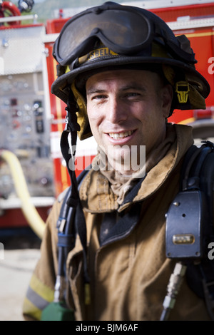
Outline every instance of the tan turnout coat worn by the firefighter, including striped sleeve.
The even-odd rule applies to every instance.
[[[174,125],[177,142],[143,180],[131,203],[119,207],[106,177],[91,170],[83,180],[80,196],[87,225],[88,272],[91,302],[84,301],[83,254],[80,240],[68,254],[68,302],[77,320],[153,321],[159,320],[163,299],[175,262],[165,257],[165,213],[178,192],[183,155],[193,143],[188,126]],[[98,234],[104,212],[129,210],[141,202],[138,222],[123,234],[123,229],[100,246]],[[39,319],[41,304],[36,292],[46,301],[53,299],[57,272],[56,220],[61,207],[57,201],[46,222],[46,233],[30,289],[24,302],[26,319]],[[178,222],[179,225],[179,222]],[[48,292],[48,293],[47,293]],[[170,320],[209,320],[205,304],[184,280]]]

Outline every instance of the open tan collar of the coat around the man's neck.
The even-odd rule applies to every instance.
[[[83,180],[80,197],[87,212],[121,212],[131,203],[139,202],[153,195],[163,185],[170,172],[193,144],[192,128],[188,125],[169,125],[175,131],[176,140],[170,145],[166,155],[146,174],[123,201],[118,205],[117,196],[111,190],[108,179],[99,170],[91,170]]]

